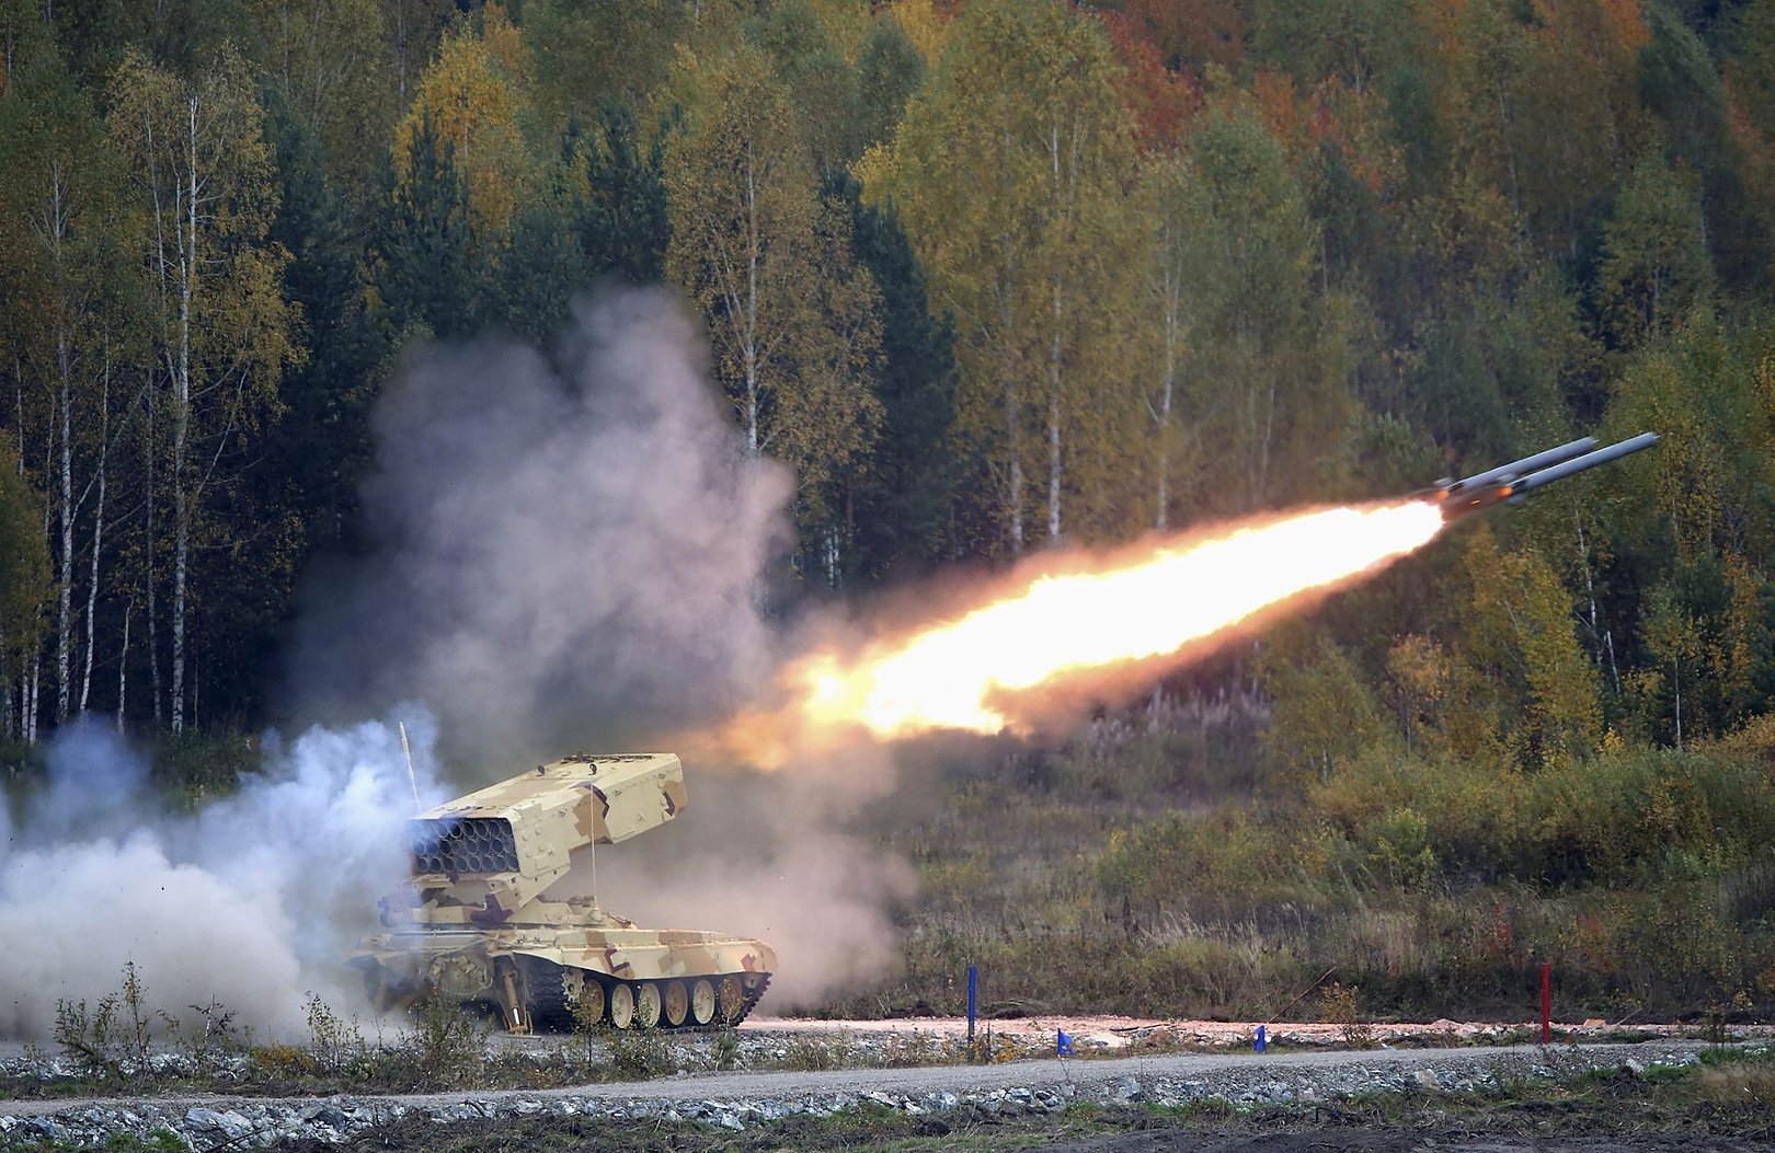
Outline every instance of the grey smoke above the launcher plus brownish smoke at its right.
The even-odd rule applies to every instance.
[[[375,413],[376,546],[307,585],[296,713],[421,701],[467,789],[573,750],[678,750],[769,692],[783,633],[760,601],[793,481],[746,452],[705,364],[664,291],[580,302],[552,360],[492,339],[415,357]],[[598,853],[609,908],[763,937],[777,1009],[880,976],[909,882],[847,825],[891,786],[886,754],[685,768],[685,816]]]

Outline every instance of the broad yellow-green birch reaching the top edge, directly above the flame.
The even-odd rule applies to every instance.
[[[955,314],[964,433],[985,445],[1012,552],[1031,504],[1049,539],[1063,532],[1067,426],[1102,401],[1083,362],[1122,275],[1106,243],[1132,177],[1116,76],[1095,20],[1047,2],[969,5],[895,144],[859,165]]]

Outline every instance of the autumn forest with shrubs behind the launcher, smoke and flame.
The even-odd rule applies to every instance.
[[[1230,727],[1003,772],[1109,805],[1037,928],[1115,953],[1111,910],[1122,988],[1257,1004],[1322,958],[1116,965],[1271,965],[1340,885],[1324,949],[1399,1004],[1528,937],[1599,999],[1775,1004],[1775,4],[0,0],[7,761],[277,720],[410,351],[550,348],[611,282],[793,470],[788,598],[1658,431],[1168,683]],[[1203,740],[1244,775],[1191,805]],[[951,834],[902,837],[939,908]]]

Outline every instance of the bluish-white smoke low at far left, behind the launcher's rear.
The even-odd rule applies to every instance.
[[[430,804],[433,727],[406,726]],[[406,869],[394,724],[268,734],[263,775],[195,814],[158,811],[147,761],[96,722],[46,759],[20,812],[0,800],[0,1036],[48,1039],[57,1000],[115,993],[126,961],[153,1008],[220,1002],[268,1038],[302,1038],[309,993],[360,1004],[343,958]]]

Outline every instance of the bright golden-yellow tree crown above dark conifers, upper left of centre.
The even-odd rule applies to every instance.
[[[467,184],[470,224],[483,239],[511,236],[517,199],[529,184],[518,131],[524,75],[518,30],[493,7],[483,35],[463,30],[444,41],[394,131],[394,170],[405,184],[412,179],[414,140],[430,122],[438,160],[449,156]]]

